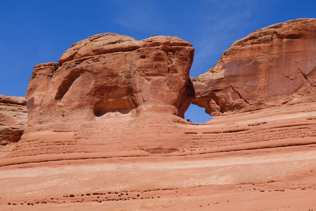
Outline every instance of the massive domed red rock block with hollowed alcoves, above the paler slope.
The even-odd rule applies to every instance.
[[[59,67],[34,67],[27,90],[29,112],[51,111],[63,118],[80,112],[81,118],[95,119],[159,110],[183,117],[190,105],[185,86],[191,46],[177,37],[137,41],[111,33],[79,41],[60,57]]]

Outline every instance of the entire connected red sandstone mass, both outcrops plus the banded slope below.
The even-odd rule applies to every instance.
[[[257,30],[196,79],[165,36],[98,34],[36,65],[0,208],[312,210],[315,22]],[[190,102],[218,116],[187,122]]]

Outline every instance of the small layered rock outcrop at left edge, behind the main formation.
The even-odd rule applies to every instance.
[[[0,157],[12,150],[26,127],[25,97],[0,95]]]

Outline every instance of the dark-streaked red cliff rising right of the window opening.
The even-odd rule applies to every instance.
[[[316,19],[258,29],[223,53],[216,65],[191,78],[193,103],[227,115],[316,101]]]

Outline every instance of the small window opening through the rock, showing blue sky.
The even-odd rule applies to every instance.
[[[184,119],[190,119],[192,123],[206,123],[212,119],[211,115],[205,113],[205,109],[191,104],[184,114]]]

